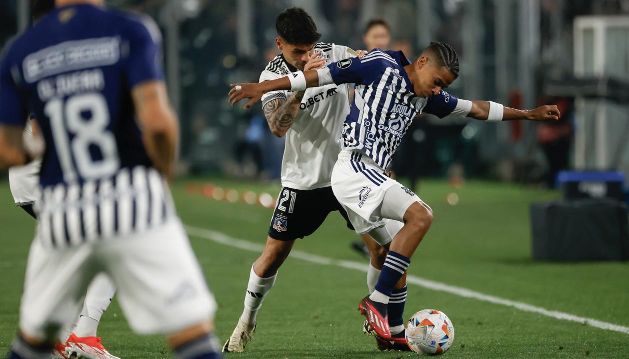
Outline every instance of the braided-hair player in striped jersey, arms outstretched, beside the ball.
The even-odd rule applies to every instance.
[[[454,49],[445,43],[431,43],[412,63],[401,51],[374,49],[361,59],[340,60],[319,70],[289,73],[278,80],[238,83],[230,90],[232,105],[250,99],[245,104],[247,109],[272,91],[356,84],[352,110],[343,124],[343,150],[331,176],[332,189],[357,232],[372,228],[383,218],[404,223],[389,246],[376,289],[359,304],[370,330],[399,348],[406,345],[406,340],[403,321],[389,325],[392,290],[404,281],[411,257],[430,228],[433,212],[415,193],[383,173],[415,115],[452,114],[484,121],[540,121],[560,116],[555,105],[518,110],[491,101],[456,99],[443,88],[458,75],[459,59]]]

